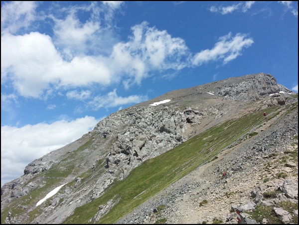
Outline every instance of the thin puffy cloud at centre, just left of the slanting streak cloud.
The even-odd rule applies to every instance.
[[[140,84],[150,71],[182,69],[187,66],[188,48],[181,38],[171,37],[165,30],[149,27],[147,22],[132,27],[129,42],[114,46],[112,58],[118,71],[129,78],[125,81]]]

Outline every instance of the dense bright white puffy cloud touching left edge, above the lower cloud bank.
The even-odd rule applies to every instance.
[[[84,56],[63,61],[48,35],[31,32],[1,37],[1,82],[8,79],[20,95],[39,98],[50,84],[56,88],[108,85],[112,78],[101,59]]]

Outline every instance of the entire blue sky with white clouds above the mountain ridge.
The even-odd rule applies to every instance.
[[[1,1],[1,186],[113,112],[260,72],[298,92],[298,1]]]

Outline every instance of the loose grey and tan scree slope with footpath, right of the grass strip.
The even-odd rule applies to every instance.
[[[242,212],[254,211],[258,203],[276,205],[282,201],[297,203],[297,211],[278,212],[277,216],[285,224],[296,224],[298,157],[287,162],[282,158],[290,152],[297,152],[298,156],[298,111],[284,120],[278,116],[265,121],[255,132],[260,135],[223,151],[217,160],[197,168],[118,224],[153,224],[161,219],[166,219],[165,224],[213,224],[215,219],[223,224],[237,224],[237,209],[244,216],[244,223],[258,224]],[[280,173],[287,177],[277,177]],[[263,198],[263,193],[276,190],[284,192],[275,199]],[[203,201],[207,203],[202,204]],[[269,224],[266,218],[263,222]]]

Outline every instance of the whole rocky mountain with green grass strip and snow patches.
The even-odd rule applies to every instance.
[[[253,173],[260,177],[248,183]],[[281,191],[276,203],[297,204],[298,222],[298,94],[271,74],[250,74],[120,110],[29,163],[24,175],[1,188],[1,224],[212,223],[216,215],[236,223],[235,211],[258,209],[263,194],[274,192],[269,187]],[[240,195],[246,192],[252,199]],[[210,205],[213,197],[222,199],[219,193],[229,202]],[[187,220],[182,212],[192,204],[181,200],[191,199],[195,210]],[[254,209],[242,211],[249,200]],[[219,208],[224,203],[230,214]],[[217,212],[209,216],[204,207]],[[285,214],[291,218],[285,221],[296,220]]]

